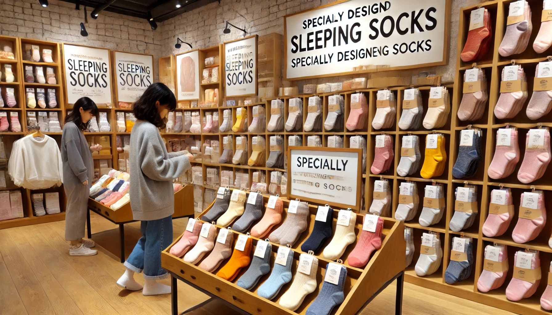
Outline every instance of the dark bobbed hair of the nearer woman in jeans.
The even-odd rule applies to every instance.
[[[134,102],[134,116],[136,119],[151,122],[157,128],[164,129],[166,119],[159,116],[155,103],[159,101],[160,105],[167,106],[169,111],[176,109],[176,97],[174,93],[163,83],[153,83],[147,87],[144,94]]]

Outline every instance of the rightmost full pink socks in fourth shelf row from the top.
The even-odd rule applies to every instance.
[[[543,230],[544,225],[546,224],[546,206],[544,205],[544,195],[542,190],[535,190],[535,194],[538,194],[537,197],[537,209],[540,209],[541,215],[530,220],[528,218],[522,218],[519,217],[518,221],[516,223],[516,227],[514,227],[512,231],[512,239],[514,242],[518,244],[526,243],[529,241],[533,241],[533,239],[537,238],[539,236],[539,233]],[[524,205],[524,197],[526,194],[530,193],[522,193],[521,194],[521,202],[519,206]],[[530,196],[534,197],[534,196]]]

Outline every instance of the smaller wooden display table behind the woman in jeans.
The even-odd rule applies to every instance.
[[[125,228],[124,225],[130,222],[136,222],[132,218],[132,210],[130,209],[130,202],[121,206],[117,210],[113,210],[110,207],[104,206],[98,201],[92,198],[88,198],[88,211],[86,217],[86,224],[88,229],[88,238],[92,238],[92,230],[90,223],[90,210],[94,211],[100,216],[107,218],[107,220],[119,225],[119,237],[121,245],[121,263],[125,262]],[[185,185],[181,190],[174,193],[174,213],[172,218],[194,217],[194,193],[192,185]]]

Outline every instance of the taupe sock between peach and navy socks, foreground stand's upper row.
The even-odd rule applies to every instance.
[[[293,201],[290,201],[290,203],[291,202]],[[268,236],[270,242],[284,246],[288,244],[293,245],[301,233],[305,232],[307,229],[307,218],[310,214],[309,204],[306,202],[297,202],[295,213],[290,212],[290,208],[291,206],[288,207],[284,223],[282,223],[282,225],[280,225]]]

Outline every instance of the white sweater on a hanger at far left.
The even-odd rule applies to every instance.
[[[13,143],[8,162],[8,174],[15,185],[26,189],[46,189],[61,186],[63,165],[60,148],[54,138],[31,135]]]

